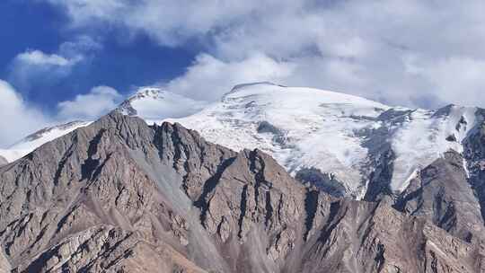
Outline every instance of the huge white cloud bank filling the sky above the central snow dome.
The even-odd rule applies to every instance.
[[[65,10],[72,28],[108,23],[144,32],[163,46],[198,41],[204,50],[193,66],[166,83],[181,92],[197,87],[197,96],[213,97],[219,82],[252,81],[229,75],[233,69],[220,71],[218,79],[211,73],[216,64],[250,71],[251,59],[259,55],[277,69],[291,67],[291,73],[276,77],[284,84],[391,104],[437,107],[479,98],[475,103],[485,106],[483,83],[475,76],[485,62],[480,0],[45,1]],[[204,80],[195,72],[210,76]]]

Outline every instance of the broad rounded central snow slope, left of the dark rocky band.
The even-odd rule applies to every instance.
[[[293,174],[306,168],[331,173],[357,192],[367,151],[356,132],[375,127],[388,108],[339,92],[242,84],[207,109],[169,121],[234,150],[260,148]]]

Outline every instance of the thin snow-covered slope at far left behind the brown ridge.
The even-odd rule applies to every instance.
[[[35,150],[40,145],[48,143],[57,137],[62,137],[74,131],[76,128],[88,126],[90,123],[90,121],[72,121],[50,128],[43,128],[40,131],[23,138],[8,149],[0,149],[0,156],[3,156],[4,159],[11,163],[26,154],[31,153],[31,151]]]

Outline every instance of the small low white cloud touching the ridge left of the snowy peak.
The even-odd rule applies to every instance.
[[[86,94],[78,94],[73,101],[57,104],[58,119],[97,119],[115,109],[122,96],[110,86],[96,86]]]

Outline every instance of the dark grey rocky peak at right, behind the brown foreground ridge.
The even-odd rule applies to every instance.
[[[454,151],[419,172],[395,207],[413,216],[424,216],[467,242],[485,238],[479,200],[467,182],[463,156]]]

